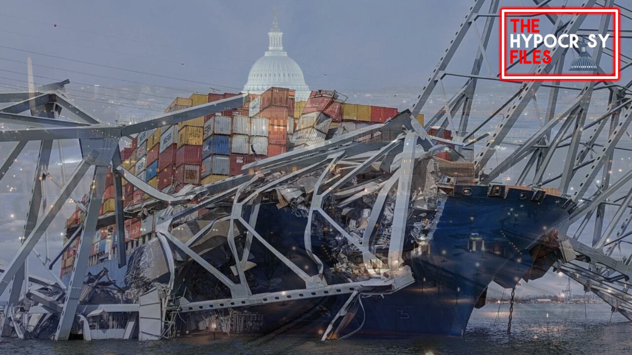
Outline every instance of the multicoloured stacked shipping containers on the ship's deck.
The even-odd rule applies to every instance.
[[[165,112],[234,95],[237,94],[193,93],[189,98],[174,99]],[[151,186],[177,191],[186,184],[210,184],[241,174],[245,164],[283,154],[296,133],[309,132],[308,140],[322,141],[334,131],[337,135],[368,124],[384,123],[397,113],[397,109],[389,107],[346,104],[334,92],[324,90],[312,92],[307,102],[295,102],[293,90],[273,87],[261,95],[249,95],[246,104],[238,109],[139,133],[130,148],[123,148],[121,158],[127,171]],[[423,124],[423,115],[418,120]],[[147,198],[123,178],[125,207]],[[115,208],[113,179],[109,174],[100,212],[110,214]],[[68,219],[67,227],[79,224],[82,219],[83,212],[77,209]],[[142,243],[140,239],[150,236],[154,226],[154,215],[126,220],[126,248],[131,251]],[[99,238],[94,241],[91,262],[113,255],[111,250],[116,249],[116,226],[97,232]],[[62,274],[70,272],[75,253],[76,244],[64,253]]]

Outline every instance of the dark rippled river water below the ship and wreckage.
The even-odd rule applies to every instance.
[[[0,354],[632,354],[632,323],[618,313],[611,318],[607,304],[516,304],[511,335],[506,334],[507,311],[507,304],[502,304],[500,314],[497,304],[475,310],[465,337],[362,338],[335,342],[275,339],[263,343],[235,338],[214,340],[212,336],[153,342],[8,339],[0,345]]]

